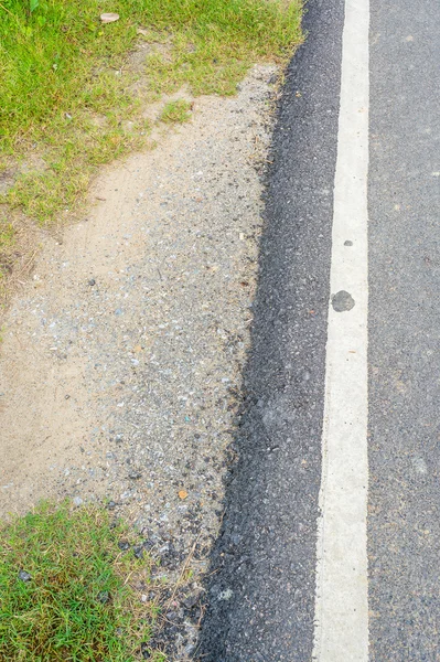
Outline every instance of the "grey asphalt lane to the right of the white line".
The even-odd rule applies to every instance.
[[[440,660],[440,7],[373,0],[371,661]]]

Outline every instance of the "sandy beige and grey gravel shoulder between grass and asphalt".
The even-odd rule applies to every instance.
[[[275,81],[257,66],[236,97],[197,98],[191,122],[104,171],[87,217],[46,238],[3,327],[2,516],[104,501],[197,586],[249,348]],[[185,627],[175,660],[192,651]]]

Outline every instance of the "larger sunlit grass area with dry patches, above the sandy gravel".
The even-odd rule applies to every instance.
[[[99,166],[148,143],[146,104],[182,86],[230,95],[253,63],[286,62],[302,40],[301,9],[301,0],[0,0],[0,184],[14,173],[0,194],[0,253],[14,211],[58,223]],[[105,11],[119,20],[101,24]],[[144,62],[133,67],[139,46]],[[162,119],[186,119],[179,113]]]

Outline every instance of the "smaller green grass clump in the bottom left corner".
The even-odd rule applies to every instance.
[[[0,660],[135,662],[142,659],[157,607],[129,579],[150,581],[151,558],[121,541],[107,511],[41,504],[0,527]],[[131,541],[135,543],[135,541]],[[163,662],[151,651],[153,662]]]

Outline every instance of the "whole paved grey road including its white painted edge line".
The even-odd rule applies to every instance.
[[[440,660],[440,11],[310,0],[204,662]]]

